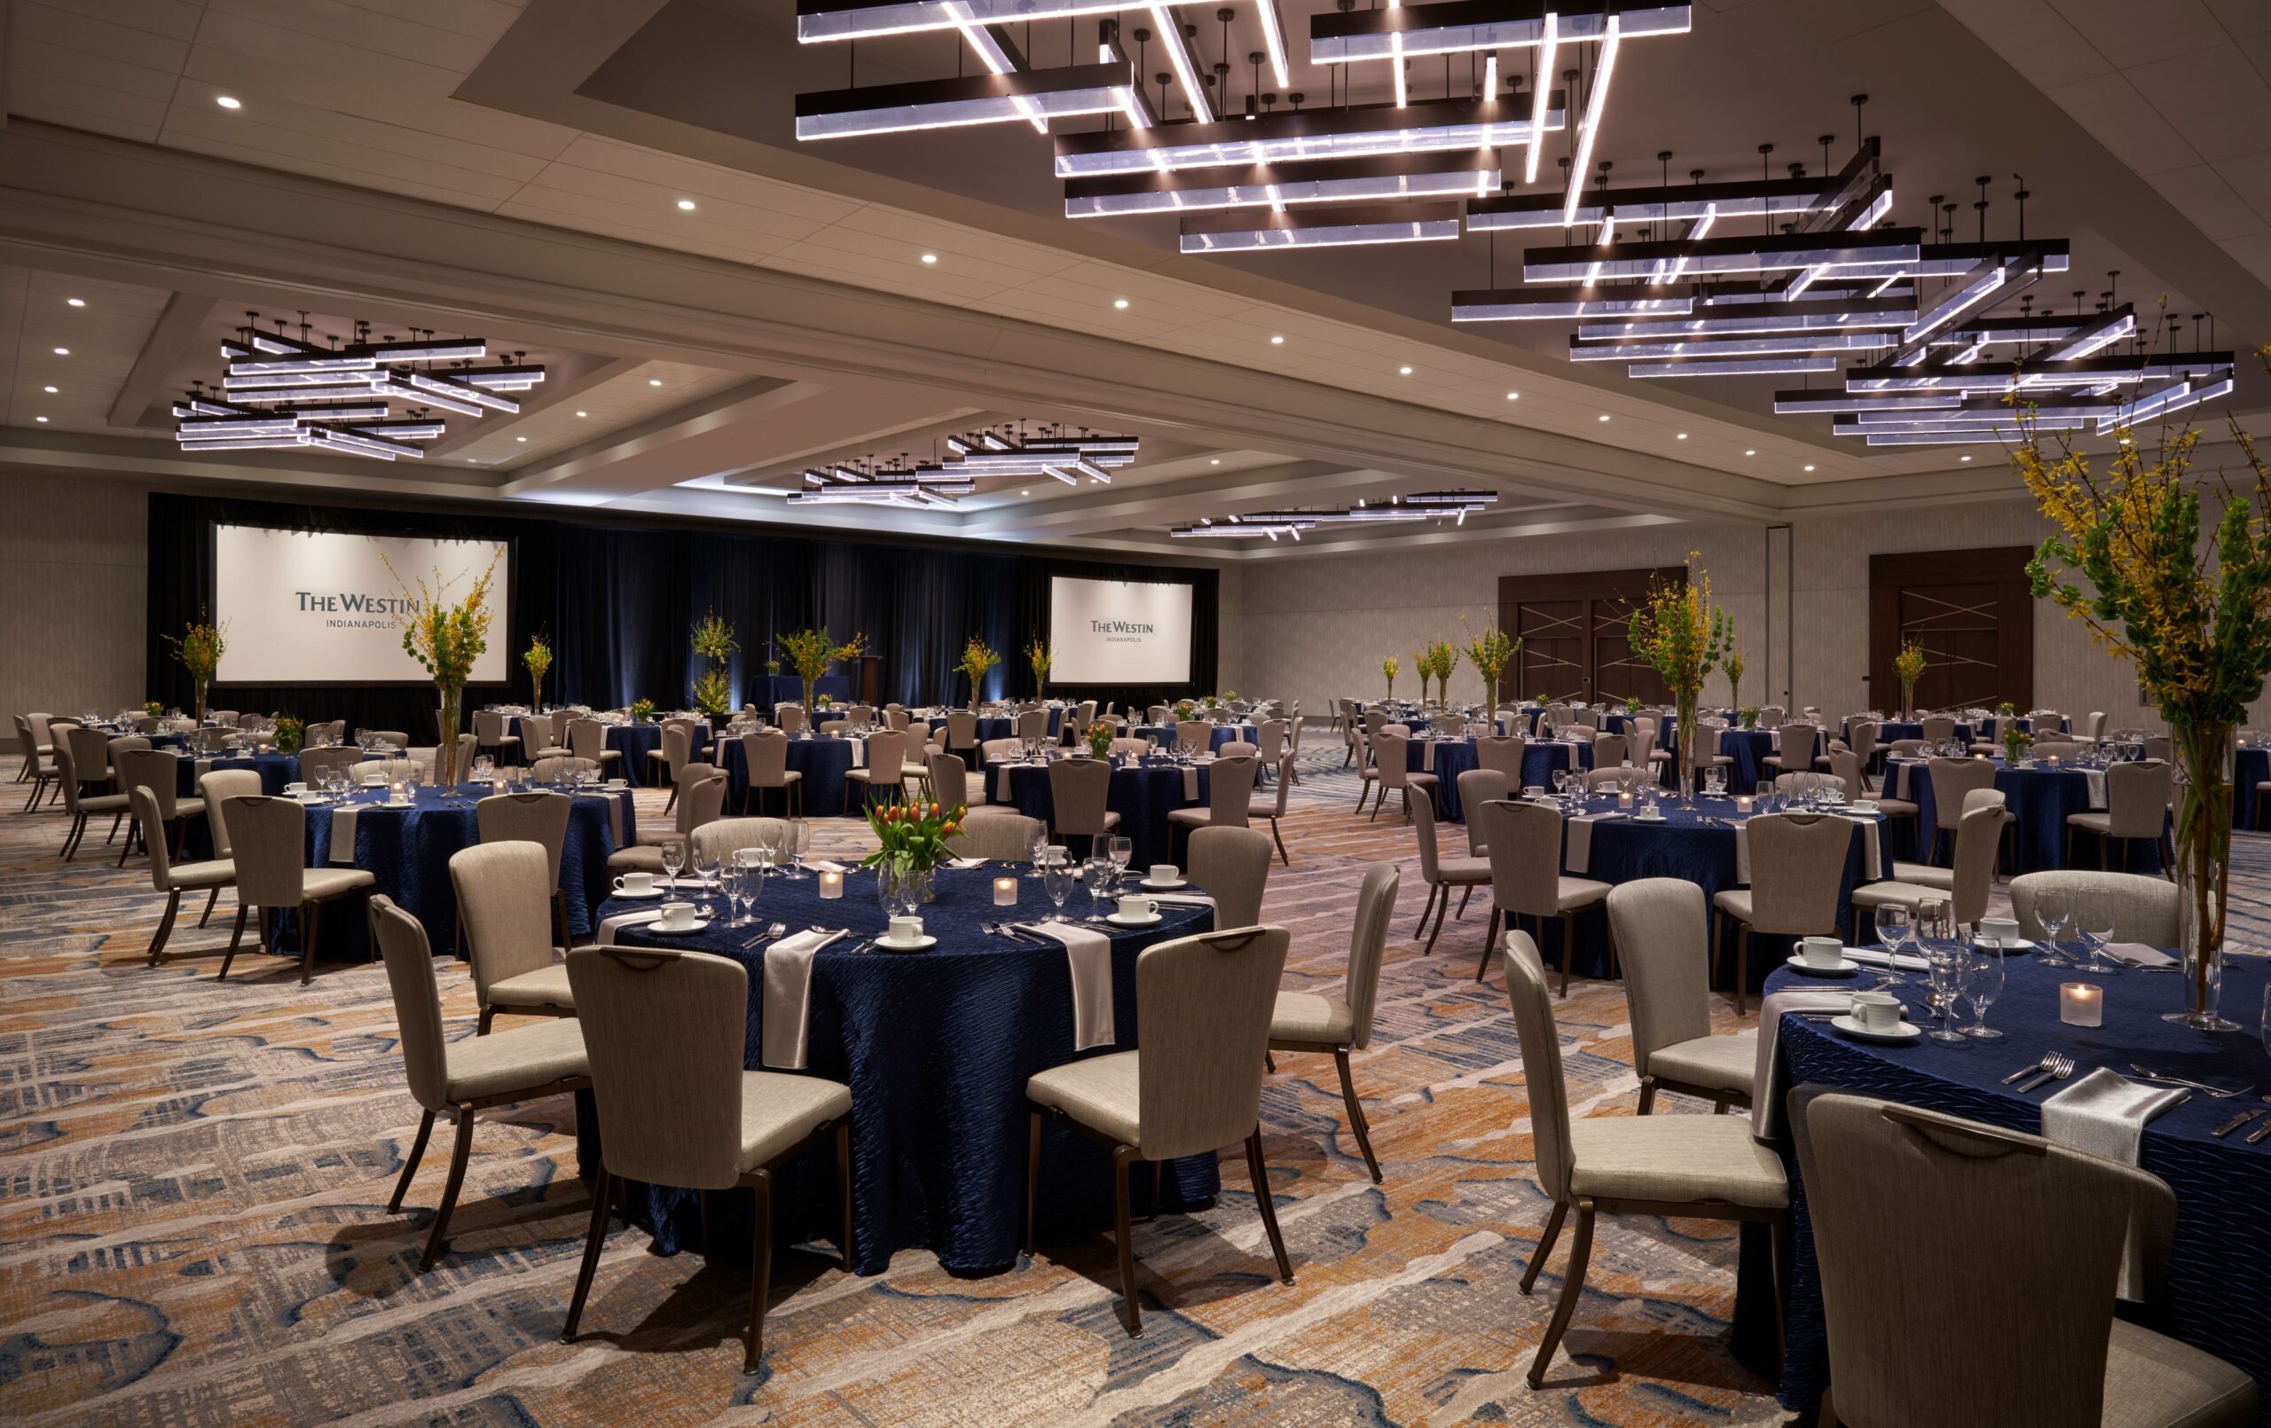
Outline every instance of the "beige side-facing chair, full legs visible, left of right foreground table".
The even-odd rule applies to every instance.
[[[1562,1083],[1560,1033],[1544,965],[1528,933],[1506,938],[1506,997],[1515,1006],[1522,1038],[1522,1081],[1531,1101],[1531,1140],[1537,1156],[1537,1187],[1553,1201],[1537,1237],[1522,1292],[1537,1285],[1562,1219],[1576,1210],[1576,1240],[1562,1271],[1553,1319],[1531,1362],[1531,1387],[1544,1385],[1547,1364],[1560,1346],[1569,1317],[1585,1296],[1585,1265],[1592,1258],[1594,1215],[1662,1215],[1671,1219],[1767,1221],[1783,1242],[1790,1215],[1790,1181],[1780,1158],[1751,1137],[1751,1122],[1701,1115],[1617,1115],[1569,1119]],[[1776,1271],[1776,1301],[1787,1269]]]

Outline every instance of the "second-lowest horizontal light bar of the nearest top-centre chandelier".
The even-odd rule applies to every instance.
[[[1488,150],[1319,159],[1299,166],[1258,163],[1204,177],[1147,170],[1067,179],[1065,218],[1458,198],[1474,193],[1476,186],[1497,188],[1499,182],[1499,161]]]

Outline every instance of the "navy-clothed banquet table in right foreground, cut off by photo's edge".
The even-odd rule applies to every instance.
[[[2003,963],[2005,988],[1987,1024],[2003,1033],[1998,1042],[1951,1047],[1933,1040],[1883,1047],[1840,1035],[1826,1022],[1783,1017],[1774,1056],[1780,1062],[1783,1090],[1824,1085],[1864,1097],[1883,1097],[1905,1106],[1942,1110],[2028,1135],[2042,1133],[2042,1101],[2060,1083],[2028,1094],[2014,1094],[2003,1076],[2035,1062],[2044,1051],[2067,1051],[2076,1060],[2073,1078],[2096,1067],[2128,1074],[2130,1062],[2148,1065],[2164,1076],[2214,1085],[2271,1083],[2271,1060],[2248,1035],[2203,1035],[2162,1022],[2182,1001],[2180,974],[2112,972],[2087,976],[2060,967],[2039,967],[2033,956],[2010,956]],[[2262,1006],[2266,963],[2232,958],[2223,972],[2223,1013],[2253,1022]],[[1917,974],[1910,974],[1910,983]],[[2067,1026],[2058,1019],[2058,983],[2089,981],[2105,990],[2105,1026]],[[1776,969],[1767,990],[1821,985],[1815,976]],[[1910,1019],[1924,1022],[1921,999],[1910,994]],[[2271,1203],[2271,1142],[2246,1144],[2244,1131],[2223,1140],[2210,1131],[2237,1110],[2257,1106],[2255,1097],[2221,1101],[2194,1094],[2180,1106],[2153,1117],[2144,1128],[2139,1165],[2176,1192],[2176,1240],[2169,1246],[2167,1308],[2169,1319],[2155,1324],[2196,1349],[2214,1353],[2271,1385],[2271,1221],[2262,1208]],[[1808,1410],[1828,1383],[1828,1342],[1821,1321],[1821,1280],[1815,1267],[1812,1228],[1805,1217],[1805,1187],[1799,1181],[1790,1140],[1790,1117],[1780,1117],[1783,1158],[1792,1183],[1792,1230],[1796,1255],[1790,1280],[1790,1349],[1783,1364],[1778,1398],[1783,1408]],[[1992,1208],[1983,1208],[1992,1215]],[[1753,1255],[1744,1244],[1744,1269],[1765,1260],[1760,1242]],[[1737,1339],[1760,1330],[1771,1342],[1774,1296],[1767,1283],[1751,1274],[1735,1305]],[[1753,1294],[1751,1287],[1760,1292]],[[2023,1342],[2021,1342],[2023,1344]],[[2271,1396],[2264,1398],[2271,1421]]]

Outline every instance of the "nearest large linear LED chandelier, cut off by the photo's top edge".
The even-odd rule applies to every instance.
[[[1231,104],[1231,20],[1251,2],[1263,45],[1245,61],[1245,111]],[[1183,252],[1265,252],[1351,243],[1449,241],[1463,232],[1460,202],[1488,200],[1517,175],[1535,184],[1553,132],[1569,134],[1583,175],[1606,116],[1617,54],[1631,39],[1685,34],[1690,5],[1660,0],[1449,0],[1315,16],[1308,61],[1326,68],[1326,89],[1381,66],[1392,104],[1340,102],[1301,109],[1276,0],[1242,0],[1213,11],[1220,54],[1206,64],[1197,25],[1174,5],[1138,5],[1149,25],[1122,34],[1097,20],[1092,57],[1067,36],[1067,64],[1040,68],[1011,23],[1067,20],[1131,9],[1126,0],[797,0],[797,39],[836,43],[886,34],[956,34],[983,73],[911,84],[870,84],[797,98],[797,138],[897,134],[911,129],[1026,123],[1051,132],[1061,118],[1104,116],[1101,132],[1056,136],[1056,175],[1067,218],[1126,213],[1181,216]],[[1131,45],[1133,41],[1133,59]],[[1158,45],[1160,68],[1149,48]],[[1508,75],[1501,86],[1501,52]],[[1467,54],[1465,89],[1451,57]],[[856,57],[856,52],[854,52]],[[1406,75],[1415,57],[1444,59],[1442,98],[1419,100]],[[1585,61],[1590,59],[1590,82]],[[1263,91],[1267,64],[1274,91]],[[1572,68],[1556,70],[1569,64]],[[1565,84],[1553,84],[1556,73]],[[856,68],[854,68],[856,75]],[[1147,91],[1156,82],[1156,98]],[[1170,82],[1188,118],[1170,116]],[[1281,98],[1290,109],[1276,109]],[[1574,132],[1572,132],[1574,125]],[[1501,166],[1519,152],[1519,168]],[[1581,202],[1572,179],[1558,207]]]

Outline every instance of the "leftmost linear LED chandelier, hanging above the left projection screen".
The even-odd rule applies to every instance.
[[[518,413],[520,402],[506,393],[545,379],[518,352],[493,368],[475,366],[488,356],[481,338],[413,329],[409,338],[370,341],[370,325],[357,322],[352,343],[318,345],[307,313],[298,338],[284,327],[275,318],[275,331],[263,331],[259,313],[248,311],[245,325],[220,343],[227,368],[218,388],[198,381],[173,404],[173,436],[184,452],[316,447],[377,461],[418,459],[425,456],[418,443],[447,431],[434,411]],[[404,415],[395,415],[395,404]]]

